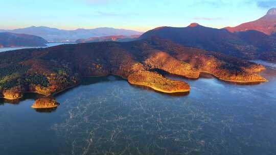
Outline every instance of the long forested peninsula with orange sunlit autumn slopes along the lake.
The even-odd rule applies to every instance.
[[[131,42],[66,44],[0,53],[0,97],[17,99],[26,92],[51,96],[80,84],[85,76],[116,74],[130,84],[166,93],[188,92],[182,81],[158,70],[191,79],[208,72],[223,81],[266,82],[262,65],[151,37]]]

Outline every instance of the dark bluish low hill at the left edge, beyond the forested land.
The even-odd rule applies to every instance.
[[[46,43],[48,42],[43,38],[33,35],[0,33],[0,47],[47,46]]]

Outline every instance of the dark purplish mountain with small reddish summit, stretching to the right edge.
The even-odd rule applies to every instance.
[[[140,38],[157,36],[176,43],[216,51],[242,59],[263,59],[276,62],[276,37],[258,31],[231,33],[192,23],[186,28],[160,27]]]

